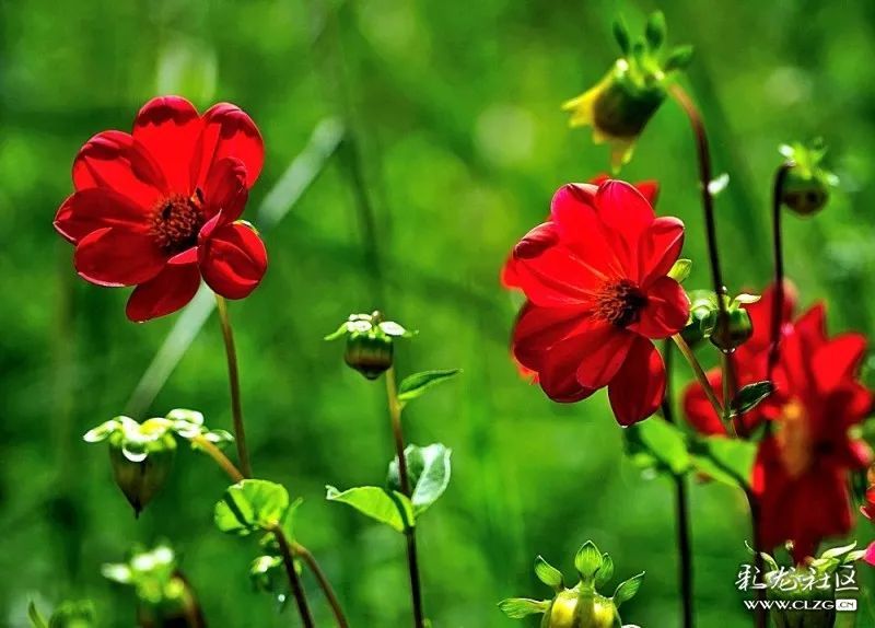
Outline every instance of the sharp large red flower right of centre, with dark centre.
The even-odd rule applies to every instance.
[[[667,276],[684,223],[656,218],[634,187],[570,184],[553,196],[550,220],[514,247],[514,272],[528,302],[513,332],[514,357],[547,395],[578,402],[608,387],[621,425],[652,415],[665,369],[651,339],[678,333],[689,302]]]

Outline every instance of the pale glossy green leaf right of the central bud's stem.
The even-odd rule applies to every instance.
[[[438,501],[450,485],[450,456],[452,450],[441,443],[424,447],[408,445],[404,451],[407,460],[407,476],[412,488],[410,502],[413,513],[419,516],[431,504]],[[388,485],[392,490],[401,491],[401,480],[398,475],[398,458],[389,463]]]

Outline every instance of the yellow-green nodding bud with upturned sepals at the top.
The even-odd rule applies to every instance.
[[[666,25],[662,13],[652,14],[645,37],[634,44],[622,21],[614,25],[620,57],[592,89],[565,102],[571,126],[592,126],[595,143],[612,144],[615,171],[632,158],[634,142],[667,95],[673,74],[690,61],[692,49],[681,46],[663,55]]]

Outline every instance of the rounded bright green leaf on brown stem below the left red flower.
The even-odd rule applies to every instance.
[[[225,490],[215,504],[215,525],[222,532],[245,536],[269,531],[282,522],[289,508],[289,492],[281,485],[245,479]]]

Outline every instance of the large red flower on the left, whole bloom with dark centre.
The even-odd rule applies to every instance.
[[[55,229],[75,245],[81,277],[136,286],[131,321],[179,310],[201,278],[242,299],[267,269],[261,239],[238,220],[262,163],[258,128],[236,106],[220,103],[199,116],[185,98],[153,98],[131,133],[104,131],[85,142]]]

